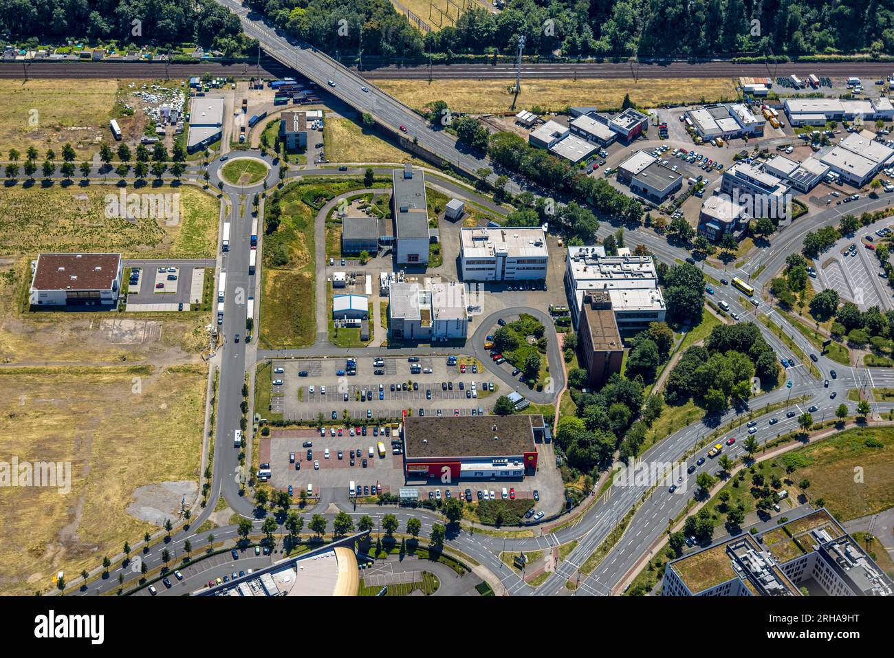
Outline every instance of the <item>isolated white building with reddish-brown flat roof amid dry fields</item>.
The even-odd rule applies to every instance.
[[[40,254],[32,270],[32,307],[114,306],[118,302],[121,254]]]

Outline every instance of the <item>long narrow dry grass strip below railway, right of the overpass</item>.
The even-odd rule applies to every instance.
[[[509,113],[512,105],[510,87],[515,80],[375,80],[384,89],[410,107],[421,109],[442,99],[453,112],[471,114]],[[717,79],[654,79],[647,80],[521,80],[521,94],[516,109],[539,105],[546,111],[559,112],[569,105],[595,105],[620,108],[629,94],[638,107],[654,107],[667,103],[707,102],[736,97],[731,80]]]

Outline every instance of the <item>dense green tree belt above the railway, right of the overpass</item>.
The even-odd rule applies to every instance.
[[[442,30],[423,37],[391,4],[360,0],[250,0],[284,30],[342,53],[402,57],[440,53],[511,54],[526,38],[526,54],[549,56],[686,55],[750,51],[764,54],[835,53],[894,49],[894,13],[878,4],[833,0],[509,0],[501,13],[463,13],[454,25],[440,12],[421,16]],[[400,19],[402,24],[395,21]],[[344,21],[340,23],[339,21]],[[342,29],[341,31],[339,29]],[[673,38],[669,38],[673,35]]]

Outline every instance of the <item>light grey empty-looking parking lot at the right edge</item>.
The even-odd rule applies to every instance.
[[[879,243],[883,236],[876,232],[888,228],[888,223],[889,220],[870,224],[860,228],[856,235],[836,242],[823,260],[814,286],[837,291],[841,298],[853,301],[861,310],[873,306],[894,308],[888,281],[880,276],[881,266],[875,251],[866,247]]]

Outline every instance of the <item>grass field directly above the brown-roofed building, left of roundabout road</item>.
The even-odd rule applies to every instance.
[[[106,196],[179,194],[180,220],[106,217]],[[191,185],[119,188],[21,185],[0,188],[0,254],[39,251],[120,251],[124,257],[214,257],[217,249],[218,200]],[[173,225],[168,225],[173,224]]]

